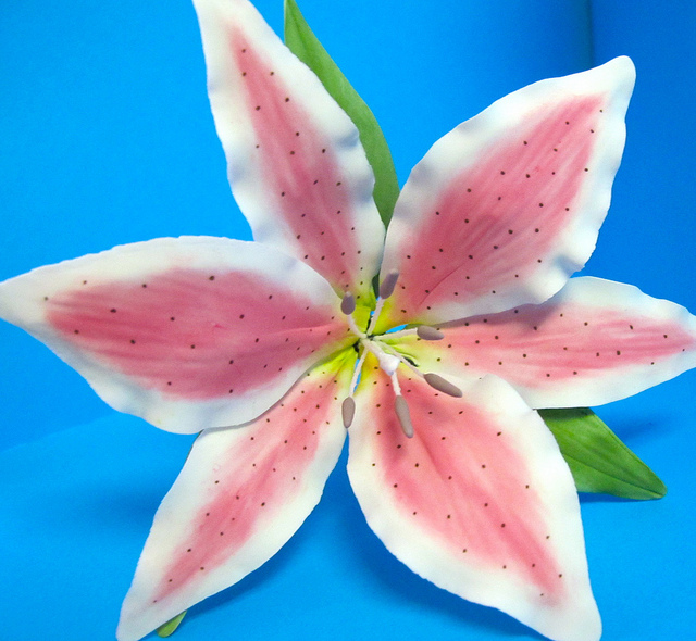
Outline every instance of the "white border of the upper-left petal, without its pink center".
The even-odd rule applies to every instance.
[[[274,204],[264,189],[261,167],[253,162],[253,129],[245,103],[241,75],[229,53],[227,27],[243,28],[253,39],[275,73],[291,81],[293,100],[301,103],[312,124],[332,141],[337,162],[351,190],[355,232],[361,264],[371,278],[378,271],[385,229],[372,198],[374,175],[365,156],[358,129],[326,92],[314,73],[281,41],[256,8],[247,0],[194,0],[200,23],[208,66],[210,102],[217,135],[228,162],[229,183],[235,199],[248,218],[256,240],[277,246],[302,260],[287,225],[274,216]],[[358,275],[352,275],[353,279]],[[365,278],[368,281],[369,278]]]

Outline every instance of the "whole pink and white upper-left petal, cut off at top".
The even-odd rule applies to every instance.
[[[210,102],[254,239],[366,296],[384,225],[345,112],[247,0],[196,0]]]

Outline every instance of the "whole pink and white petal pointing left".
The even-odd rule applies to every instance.
[[[122,412],[171,431],[256,418],[346,344],[340,299],[258,243],[163,238],[0,284],[0,317]]]

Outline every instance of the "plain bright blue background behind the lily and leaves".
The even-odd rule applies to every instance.
[[[279,30],[281,0],[256,4]],[[585,273],[696,311],[691,0],[300,5],[380,120],[401,183],[438,137],[502,95],[631,55],[638,81],[624,162]],[[0,279],[159,236],[249,237],[185,0],[3,3],[0,61]],[[650,503],[583,498],[608,641],[693,637],[695,384],[688,373],[600,410],[670,488]],[[190,439],[115,414],[4,324],[0,399],[0,639],[113,639]],[[340,465],[291,542],[195,612],[175,638],[540,639],[394,560]]]

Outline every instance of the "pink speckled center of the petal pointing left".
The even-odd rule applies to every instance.
[[[150,389],[188,399],[256,389],[346,336],[332,310],[238,272],[84,281],[46,304],[48,322],[70,343]]]

